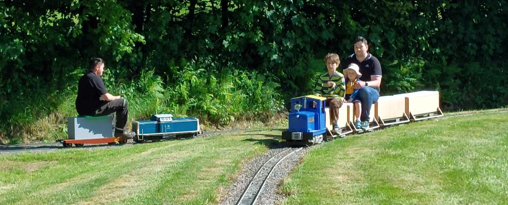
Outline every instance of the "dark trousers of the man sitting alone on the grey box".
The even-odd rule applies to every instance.
[[[102,104],[99,109],[96,110],[96,116],[108,115],[113,112],[116,112],[115,129],[123,131],[125,124],[127,124],[127,116],[129,113],[129,103],[127,103],[127,100],[120,98]]]

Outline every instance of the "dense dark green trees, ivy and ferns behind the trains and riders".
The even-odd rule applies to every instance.
[[[75,115],[93,56],[134,118],[266,118],[310,91],[326,53],[350,55],[357,35],[382,63],[382,95],[437,89],[445,109],[505,106],[506,10],[493,0],[1,1],[0,138],[41,138],[31,124]]]

